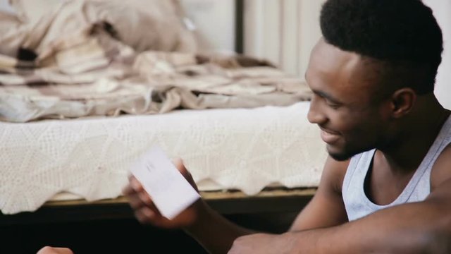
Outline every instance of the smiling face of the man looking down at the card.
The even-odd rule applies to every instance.
[[[376,63],[320,40],[311,53],[306,80],[314,97],[308,119],[321,128],[331,157],[349,159],[384,145],[388,103],[376,99]]]

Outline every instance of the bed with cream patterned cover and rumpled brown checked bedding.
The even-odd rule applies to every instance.
[[[32,6],[32,1],[13,2]],[[75,5],[78,2],[78,7],[85,3],[73,2]],[[58,7],[60,14],[61,8]],[[167,46],[167,43],[161,44]],[[145,45],[135,45],[134,49],[137,47],[145,48]],[[183,47],[186,49],[190,44]],[[40,61],[48,63],[54,56],[46,53],[44,48],[37,47],[47,54],[47,58]],[[104,51],[105,54],[92,61],[97,66],[70,62],[73,54],[56,54],[59,58],[55,56],[54,59],[64,63],[59,65],[63,73],[73,74],[70,78],[61,75],[61,68],[58,71],[41,68],[36,75],[37,72],[30,71],[32,67],[27,66],[26,61],[10,63],[11,59],[1,59],[2,71],[8,74],[0,77],[3,84],[0,87],[0,96],[3,96],[0,105],[3,120],[0,122],[1,213],[22,218],[23,212],[39,214],[42,210],[51,210],[51,207],[100,205],[104,209],[100,212],[102,216],[111,214],[111,210],[105,210],[105,205],[126,203],[121,197],[121,189],[128,181],[128,169],[152,145],[160,145],[169,157],[181,157],[204,198],[210,202],[221,201],[216,202],[216,206],[222,207],[223,212],[233,212],[230,206],[236,205],[237,200],[247,200],[249,205],[246,209],[255,211],[262,207],[252,200],[271,200],[266,202],[266,206],[271,206],[275,204],[274,200],[283,200],[280,197],[311,198],[310,188],[318,186],[326,150],[318,128],[307,121],[309,99],[305,85],[298,86],[301,84],[299,80],[268,63],[243,56],[193,56],[189,50],[184,52],[185,49],[175,53],[179,58],[142,49],[144,53],[140,54],[140,62],[150,62],[153,70],[159,67],[157,69],[166,71],[166,74],[166,67],[173,64],[172,67],[177,67],[178,78],[182,72],[192,75],[199,71],[198,66],[187,68],[187,62],[218,63],[222,67],[232,65],[233,68],[226,72],[219,71],[229,78],[240,77],[241,83],[228,80],[226,83],[231,84],[228,87],[211,85],[218,79],[212,79],[211,73],[207,73],[209,78],[202,76],[202,82],[197,80],[195,89],[190,87],[187,90],[190,93],[187,93],[183,90],[186,86],[179,85],[186,80],[185,76],[176,79],[165,75],[164,81],[171,82],[147,93],[149,90],[142,89],[142,80],[137,82],[135,76],[130,78],[127,72],[112,69],[115,65],[111,62],[107,71],[99,71],[104,64],[102,59],[108,55],[105,52],[109,51]],[[121,63],[130,59],[127,50],[116,51],[116,56],[122,57]],[[42,54],[38,54],[38,58]],[[253,65],[249,66],[249,62]],[[235,68],[237,64],[246,67],[248,72]],[[139,69],[141,78],[150,68],[133,66]],[[80,69],[91,72],[85,75]],[[199,73],[206,73],[206,69],[211,71],[211,65]],[[80,73],[83,75],[78,75]],[[218,68],[214,68],[214,73],[218,73]],[[99,92],[104,89],[111,91],[111,82],[105,81],[105,75],[110,80],[116,78],[116,81],[121,80],[121,84],[125,80],[125,83],[135,86],[121,90],[114,83],[113,93],[119,92],[111,100],[111,92],[106,96]],[[255,80],[259,85],[255,85]],[[51,92],[49,86],[42,85],[56,81],[63,85],[51,85]],[[163,83],[159,81],[159,84]],[[185,83],[193,84],[191,81]],[[140,92],[140,96],[135,96],[130,90]],[[89,91],[88,97],[85,91]],[[152,100],[158,103],[144,103],[143,92],[152,99],[158,97]],[[61,96],[55,99],[55,95]],[[106,101],[113,104],[107,107]],[[19,114],[11,105],[20,105],[23,110]],[[235,203],[230,203],[233,200]],[[14,220],[6,217],[2,222]],[[23,219],[17,221],[24,222]]]

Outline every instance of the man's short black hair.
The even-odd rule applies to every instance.
[[[421,70],[421,80],[409,86],[419,94],[433,92],[443,37],[431,8],[421,0],[328,0],[320,23],[329,44],[391,67]]]

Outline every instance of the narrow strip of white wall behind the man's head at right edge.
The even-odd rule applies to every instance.
[[[435,18],[443,32],[442,63],[438,67],[435,95],[443,107],[451,109],[451,1],[424,0],[432,8]]]

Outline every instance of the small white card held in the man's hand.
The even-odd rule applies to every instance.
[[[131,172],[168,219],[173,219],[200,198],[160,147],[153,147],[140,157]]]

